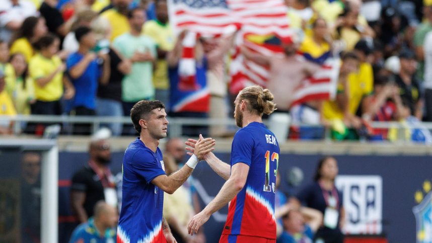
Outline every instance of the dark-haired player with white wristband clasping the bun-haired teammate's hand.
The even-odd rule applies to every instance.
[[[160,101],[139,101],[130,111],[139,137],[123,158],[122,205],[117,229],[118,243],[176,242],[162,217],[164,193],[173,194],[192,174],[198,161],[213,150],[215,141],[199,139],[200,154],[192,155],[176,173],[165,174],[159,139],[167,136],[168,120]]]

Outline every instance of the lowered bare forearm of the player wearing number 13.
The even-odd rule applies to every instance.
[[[223,208],[227,203],[229,203],[233,198],[237,195],[237,193],[242,190],[244,185],[239,184],[236,182],[235,179],[231,178],[229,179],[224,186],[222,187],[221,191],[216,195],[216,197],[211,200],[211,202],[204,208],[204,212],[208,215],[213,214],[214,212],[218,211],[219,209]]]

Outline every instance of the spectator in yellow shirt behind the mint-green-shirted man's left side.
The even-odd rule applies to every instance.
[[[111,38],[112,42],[118,36],[129,32],[130,26],[127,19],[128,7],[131,0],[113,0],[112,4],[114,8],[109,9],[102,13],[102,17],[106,18],[111,25]]]

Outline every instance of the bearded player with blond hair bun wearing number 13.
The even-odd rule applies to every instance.
[[[274,191],[279,144],[262,123],[263,113],[271,114],[275,110],[272,100],[270,91],[260,86],[247,87],[238,94],[234,117],[241,129],[234,136],[230,165],[211,152],[204,155],[211,169],[227,182],[189,222],[189,233],[196,233],[211,214],[231,201],[219,242],[276,241]],[[195,154],[203,150],[202,144],[193,139],[189,139],[187,145],[190,147],[186,149]]]

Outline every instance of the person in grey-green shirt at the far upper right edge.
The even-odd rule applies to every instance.
[[[432,1],[423,0],[423,21],[415,30],[414,33],[414,46],[415,56],[418,60],[417,78],[420,80],[424,78],[424,47],[426,34],[432,31]]]

